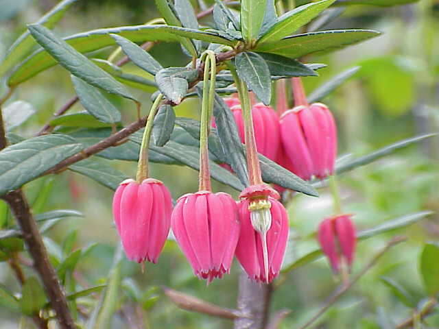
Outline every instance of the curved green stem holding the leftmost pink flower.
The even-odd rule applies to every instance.
[[[137,164],[137,182],[141,183],[143,180],[148,178],[148,148],[150,146],[152,125],[154,124],[154,117],[158,111],[158,107],[162,101],[163,95],[158,94],[156,100],[152,104],[150,114],[148,114],[148,119],[145,125],[145,131],[143,132],[142,143],[139,153],[139,163]]]

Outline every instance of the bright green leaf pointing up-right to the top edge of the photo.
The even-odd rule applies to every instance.
[[[322,0],[311,2],[286,12],[259,38],[258,44],[276,42],[285,36],[289,36],[296,32],[299,27],[305,25],[320,14],[320,12],[328,8],[334,1],[335,0]]]

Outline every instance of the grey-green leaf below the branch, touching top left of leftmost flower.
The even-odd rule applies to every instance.
[[[110,164],[93,158],[76,162],[69,167],[69,170],[85,175],[112,190],[115,190],[123,180],[129,178]]]

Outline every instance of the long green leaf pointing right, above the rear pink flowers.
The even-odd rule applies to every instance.
[[[375,36],[379,36],[379,32],[369,29],[334,29],[296,34],[276,42],[265,42],[257,45],[254,51],[276,53],[288,58],[300,58],[309,53],[342,49]]]

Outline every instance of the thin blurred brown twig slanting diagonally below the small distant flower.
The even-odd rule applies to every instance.
[[[299,329],[305,329],[305,328],[311,326],[311,324],[313,324],[314,321],[316,321],[321,315],[323,315],[328,310],[328,308],[330,308],[338,300],[338,298],[340,298],[342,295],[344,295],[344,293],[346,293],[346,291],[351,289],[351,287],[362,276],[364,276],[364,273],[366,273],[371,267],[373,267],[375,265],[375,263],[377,263],[379,258],[381,258],[381,256],[383,256],[383,254],[385,254],[385,252],[387,252],[388,249],[390,249],[391,247],[393,247],[394,245],[396,245],[398,243],[405,241],[406,239],[407,238],[405,236],[395,236],[392,240],[390,240],[387,243],[387,245],[385,245],[385,247],[383,247],[383,249],[381,249],[379,252],[377,252],[377,254],[375,254],[375,256],[372,258],[372,260],[370,260],[370,262],[363,269],[361,269],[361,271],[359,271],[359,273],[350,282],[346,282],[346,284],[342,284],[340,287],[338,287],[335,290],[335,292],[333,293],[333,295],[331,295],[331,297],[329,297],[329,300],[327,300],[327,302],[324,304],[324,306],[322,306],[322,308],[320,308],[320,310],[318,310],[316,315],[314,315],[309,321],[307,321],[306,324],[301,326]]]

